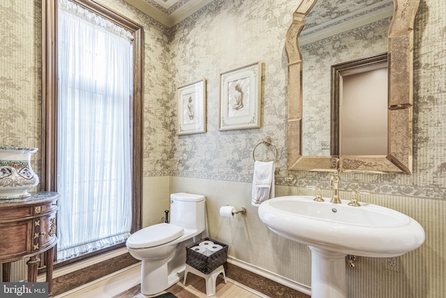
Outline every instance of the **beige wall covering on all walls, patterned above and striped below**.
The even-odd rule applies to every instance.
[[[279,152],[276,196],[309,193],[306,186],[331,195],[329,173],[286,169],[284,40],[300,0],[215,0],[170,29],[121,0],[99,2],[144,25],[144,223],[160,222],[169,193],[202,193],[210,235],[229,244],[232,260],[308,289],[308,248],[270,232],[249,205],[252,149],[266,137]],[[1,144],[40,147],[40,10],[40,0],[0,1]],[[340,184],[346,198],[366,189],[370,195],[362,200],[415,218],[426,242],[394,260],[360,258],[348,268],[348,297],[440,298],[446,292],[445,10],[443,0],[422,0],[415,19],[413,174],[341,173]],[[263,63],[261,128],[219,131],[220,73],[256,61]],[[208,131],[178,136],[176,88],[203,77]],[[40,172],[39,155],[33,167]],[[220,218],[224,204],[247,207],[247,214]]]

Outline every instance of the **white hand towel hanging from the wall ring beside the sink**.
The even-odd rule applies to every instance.
[[[263,201],[274,198],[274,171],[274,161],[254,163],[251,201],[253,206],[259,206]]]

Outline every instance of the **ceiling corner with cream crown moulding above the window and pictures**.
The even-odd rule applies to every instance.
[[[172,27],[213,0],[125,0],[158,22]]]

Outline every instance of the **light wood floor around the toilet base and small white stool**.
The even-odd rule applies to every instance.
[[[141,266],[135,265],[120,271],[118,274],[101,278],[90,283],[86,287],[74,289],[63,293],[55,298],[75,298],[75,297],[95,297],[95,298],[146,298],[160,295],[164,292],[171,292],[178,298],[204,298],[206,296],[206,282],[203,278],[192,273],[187,274],[187,283],[183,285],[183,280],[179,281],[171,288],[160,292],[157,295],[146,296],[141,294],[139,278]],[[259,292],[246,288],[231,279],[225,284],[222,274],[218,276],[215,295],[216,298],[256,298],[266,297]]]

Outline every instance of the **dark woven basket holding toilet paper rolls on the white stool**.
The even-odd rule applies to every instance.
[[[203,255],[203,253],[192,251],[192,249],[190,249],[206,240],[213,241],[215,244],[220,244],[222,249],[211,255]],[[203,272],[203,274],[210,274],[212,271],[223,265],[224,262],[226,262],[226,258],[228,258],[228,244],[224,244],[208,237],[186,246],[186,264]]]

